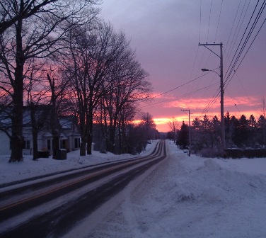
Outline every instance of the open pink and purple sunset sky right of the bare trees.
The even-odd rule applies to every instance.
[[[224,112],[237,118],[253,114],[256,119],[263,113],[263,1],[103,0],[100,8],[105,21],[125,32],[137,60],[149,73],[154,98],[141,102],[139,110],[153,115],[157,130],[169,131],[167,124],[173,117],[188,123],[182,110],[190,109],[191,120],[205,114],[220,118],[220,48],[209,46],[211,52],[199,42],[223,43]]]

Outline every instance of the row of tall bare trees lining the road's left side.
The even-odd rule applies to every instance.
[[[23,102],[31,108],[35,137],[42,128],[36,108],[49,105],[54,150],[59,147],[57,118],[66,114],[78,118],[81,156],[91,154],[93,123],[102,125],[110,152],[117,135],[125,141],[137,101],[149,97],[151,86],[125,34],[98,18],[98,3],[1,2],[0,130],[11,140],[10,162],[23,159]],[[8,118],[10,125],[3,123]]]

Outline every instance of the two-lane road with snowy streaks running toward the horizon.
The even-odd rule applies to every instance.
[[[149,156],[22,181],[0,190],[1,237],[59,237],[129,181],[166,158],[164,141]]]

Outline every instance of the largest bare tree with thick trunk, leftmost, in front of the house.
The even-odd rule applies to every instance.
[[[97,11],[89,11],[88,1],[1,1],[0,73],[1,89],[11,86],[12,136],[9,162],[21,161],[23,147],[23,84],[25,63],[47,57],[76,24],[88,21]],[[94,15],[93,15],[94,16]],[[61,45],[61,48],[63,45]]]

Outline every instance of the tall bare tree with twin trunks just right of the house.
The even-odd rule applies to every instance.
[[[69,79],[72,81],[76,114],[81,131],[81,156],[91,154],[93,117],[112,79],[110,70],[125,47],[125,36],[116,34],[110,23],[99,22],[95,28],[81,28],[70,35]]]

